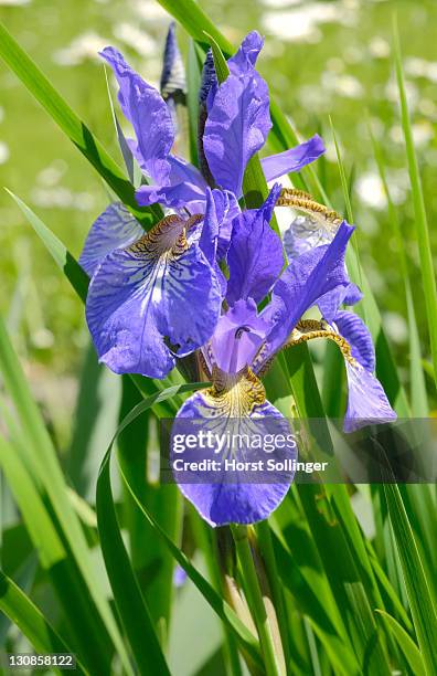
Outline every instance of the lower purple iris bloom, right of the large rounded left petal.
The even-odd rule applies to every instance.
[[[278,350],[320,337],[334,340],[344,356],[349,382],[344,431],[394,420],[395,413],[373,376],[370,334],[356,315],[339,309],[340,304],[355,303],[361,297],[344,263],[354,228],[345,221],[333,225],[338,219],[326,210],[326,221],[331,225],[327,243],[309,244],[305,253],[290,256],[284,267],[281,241],[269,226],[279,194],[280,188],[275,186],[260,209],[234,219],[227,253],[230,307],[202,348],[204,369],[213,387],[190,397],[177,420],[189,418],[204,425],[222,420],[226,425],[233,415],[246,421],[280,418],[266,400],[259,376]],[[312,202],[308,210],[317,213],[318,208],[323,210]],[[270,299],[258,311],[267,294]],[[313,306],[319,307],[323,318],[302,319]],[[265,519],[279,505],[291,480],[292,473],[288,483],[180,483],[180,488],[204,519],[221,526]]]

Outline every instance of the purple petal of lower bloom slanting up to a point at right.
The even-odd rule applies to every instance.
[[[318,298],[337,286],[348,286],[344,254],[353,231],[343,221],[330,244],[308,251],[284,271],[274,286],[271,303],[262,314],[274,325],[267,338],[266,359],[286,342],[300,317]]]

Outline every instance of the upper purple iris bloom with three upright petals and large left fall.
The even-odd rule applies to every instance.
[[[102,53],[114,70],[118,101],[135,131],[128,145],[151,182],[139,188],[137,199],[140,204],[159,202],[179,214],[145,235],[127,209],[114,203],[86,240],[79,262],[93,276],[86,304],[88,327],[100,361],[117,373],[164,378],[177,357],[194,351],[213,334],[225,287],[217,261],[226,254],[232,222],[239,213],[236,198],[246,163],[271,126],[267,85],[254,67],[262,46],[258,33],[249,33],[228,62],[226,82],[210,87],[203,145],[218,186],[212,192],[201,172],[173,152],[171,106],[117,50],[106,47]],[[169,77],[181,65],[173,28],[164,61],[168,99]],[[267,158],[266,178],[297,171],[323,150],[321,139],[313,137]],[[217,225],[212,235],[205,224],[200,236],[207,209],[214,211]]]

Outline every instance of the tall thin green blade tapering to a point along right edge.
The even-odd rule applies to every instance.
[[[434,271],[433,251],[429,240],[428,220],[426,215],[424,191],[417,163],[416,149],[413,139],[412,124],[409,119],[408,103],[405,92],[404,68],[402,64],[401,41],[397,24],[393,22],[393,52],[396,70],[397,87],[399,92],[401,118],[404,130],[405,148],[408,161],[409,182],[412,186],[413,205],[415,213],[415,225],[417,233],[417,245],[420,257],[420,272],[423,278],[423,291],[425,296],[426,315],[428,319],[430,352],[435,373],[437,373],[437,285]],[[437,384],[437,379],[436,379]]]

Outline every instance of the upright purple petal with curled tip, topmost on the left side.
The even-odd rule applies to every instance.
[[[102,56],[111,66],[119,85],[118,101],[137,138],[130,147],[141,169],[157,183],[166,183],[170,173],[167,157],[174,142],[171,114],[159,92],[147,84],[114,47]]]

